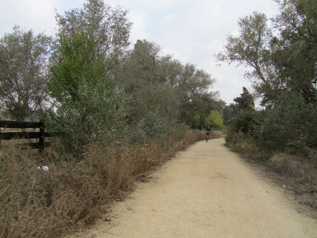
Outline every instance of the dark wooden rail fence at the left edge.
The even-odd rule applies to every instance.
[[[1,132],[1,128],[39,128],[39,132]],[[39,142],[27,143],[32,148],[38,148],[42,152],[44,147],[48,146],[47,142],[44,142],[45,137],[50,135],[45,132],[43,122],[16,122],[16,121],[1,121],[0,120],[0,145],[1,140],[12,140],[12,139],[39,139]]]

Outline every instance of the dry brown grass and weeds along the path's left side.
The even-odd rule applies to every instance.
[[[93,143],[83,160],[54,149],[0,149],[0,237],[60,237],[93,223],[109,202],[133,189],[151,169],[201,137],[191,131],[171,146],[150,139],[143,145]],[[48,166],[49,171],[37,170]]]

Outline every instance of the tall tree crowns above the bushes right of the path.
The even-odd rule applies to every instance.
[[[279,95],[292,92],[307,102],[317,101],[316,4],[306,0],[276,0],[280,13],[272,19],[274,31],[264,14],[254,12],[238,21],[239,35],[227,37],[222,62],[251,67],[245,76],[253,82],[262,104],[272,106]]]

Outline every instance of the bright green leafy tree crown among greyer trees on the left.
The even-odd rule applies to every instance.
[[[84,32],[75,32],[72,36],[60,35],[59,44],[57,64],[51,67],[54,78],[49,83],[51,96],[58,102],[77,100],[82,84],[96,87],[99,81],[105,80],[103,75],[107,63],[103,56],[95,57],[95,42]]]

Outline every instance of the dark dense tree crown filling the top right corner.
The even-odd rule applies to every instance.
[[[271,39],[271,61],[282,89],[317,101],[317,8],[314,1],[277,1],[280,14],[273,18],[279,37]]]

